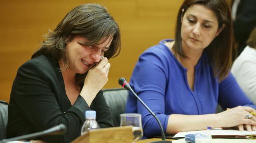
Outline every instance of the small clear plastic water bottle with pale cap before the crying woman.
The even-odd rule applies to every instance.
[[[94,110],[88,110],[85,111],[85,118],[86,121],[84,122],[82,129],[81,129],[81,135],[87,133],[91,129],[99,129],[99,124],[96,121],[96,111]]]

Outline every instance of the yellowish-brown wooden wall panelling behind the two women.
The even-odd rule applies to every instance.
[[[99,3],[107,7],[121,29],[121,54],[110,60],[109,81],[104,88],[128,80],[139,55],[161,39],[173,38],[175,20],[183,0],[3,0],[0,8],[0,100],[9,101],[17,69],[77,5]]]

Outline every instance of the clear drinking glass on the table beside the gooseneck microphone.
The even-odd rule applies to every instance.
[[[142,116],[138,113],[124,113],[121,114],[121,123],[120,126],[133,126],[133,136],[134,136],[134,142],[137,140],[140,140],[143,136],[142,131]]]

